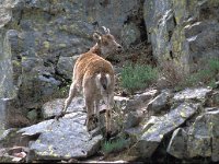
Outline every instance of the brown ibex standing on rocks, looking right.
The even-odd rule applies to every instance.
[[[116,43],[110,30],[104,27],[105,34],[100,32],[93,33],[93,39],[96,44],[85,54],[79,56],[74,68],[72,84],[69,96],[65,101],[65,106],[57,118],[62,117],[71,103],[72,98],[82,90],[87,107],[87,128],[88,131],[93,129],[92,116],[96,114],[100,121],[100,101],[103,99],[107,106],[106,132],[111,133],[111,109],[114,103],[114,70],[106,58],[111,54],[122,51],[122,46]],[[94,110],[95,108],[95,110]]]

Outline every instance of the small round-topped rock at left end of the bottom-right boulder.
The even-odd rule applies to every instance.
[[[172,134],[166,152],[177,159],[187,157],[187,132],[182,128],[177,128]]]

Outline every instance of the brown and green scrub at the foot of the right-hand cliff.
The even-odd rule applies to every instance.
[[[159,72],[166,79],[170,86],[175,90],[183,87],[209,85],[216,86],[217,74],[219,73],[219,58],[203,59],[198,62],[196,72],[186,74],[183,68],[174,61],[164,61]]]

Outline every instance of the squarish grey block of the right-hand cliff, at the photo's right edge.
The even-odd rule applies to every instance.
[[[219,48],[217,38],[219,37],[219,25],[216,20],[196,22],[185,28],[186,40],[189,47],[189,57],[194,61],[201,58],[218,57]],[[206,47],[208,47],[206,49]],[[191,66],[191,69],[195,69]]]

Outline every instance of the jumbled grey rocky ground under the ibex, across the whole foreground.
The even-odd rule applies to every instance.
[[[5,130],[0,139],[1,161],[219,161],[218,89],[150,90],[131,98],[115,96],[113,129],[127,142],[123,151],[105,154],[102,130],[89,133],[85,129],[83,98],[76,98],[69,114],[57,121],[53,117],[62,103],[47,102],[43,106],[45,120],[36,125]]]

